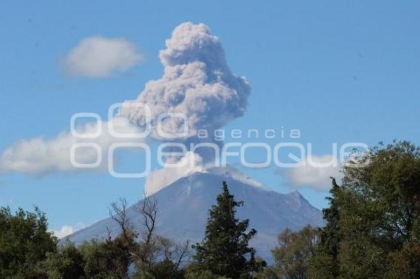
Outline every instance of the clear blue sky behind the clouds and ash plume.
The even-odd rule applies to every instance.
[[[331,154],[333,142],[419,144],[419,9],[418,1],[4,1],[0,150],[20,139],[54,138],[77,112],[106,120],[109,105],[137,98],[162,76],[159,51],[186,21],[209,26],[232,72],[251,84],[245,115],[227,131],[299,129],[299,142],[311,142],[318,156]],[[109,77],[67,75],[63,59],[97,35],[133,43],[144,61]],[[267,142],[279,140],[289,138]],[[121,168],[135,160],[127,155]],[[274,166],[241,170],[281,192],[296,188]],[[5,173],[0,205],[39,205],[53,229],[87,225],[119,197],[138,200],[143,183],[101,172]],[[326,205],[328,191],[298,190],[314,206]]]

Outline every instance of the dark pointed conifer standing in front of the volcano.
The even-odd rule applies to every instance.
[[[201,270],[232,279],[250,278],[265,264],[256,261],[254,248],[248,246],[256,231],[251,229],[247,233],[249,220],[239,221],[235,216],[236,207],[240,206],[243,202],[237,202],[223,182],[217,204],[210,209],[205,238],[201,244],[192,246]]]

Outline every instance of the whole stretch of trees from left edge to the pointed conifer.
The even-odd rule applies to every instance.
[[[146,198],[138,213],[147,228],[141,237],[132,229],[122,199],[121,205],[112,205],[111,212],[121,233],[75,247],[71,243],[57,245],[38,209],[19,209],[13,215],[9,208],[1,208],[0,278],[126,279],[131,276],[129,270],[137,279],[184,278],[180,266],[189,256],[189,245],[155,235],[156,201]]]

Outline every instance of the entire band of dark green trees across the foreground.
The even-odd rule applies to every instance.
[[[326,225],[279,232],[272,266],[255,256],[257,232],[235,217],[243,202],[223,183],[198,244],[157,235],[158,201],[148,198],[137,208],[143,231],[132,229],[122,199],[110,212],[121,234],[77,247],[59,244],[39,209],[1,208],[0,278],[420,278],[420,148],[379,145],[342,171]]]

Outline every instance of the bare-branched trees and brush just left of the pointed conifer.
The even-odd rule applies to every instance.
[[[120,199],[111,205],[110,216],[119,225],[120,234],[104,241],[93,240],[81,249],[87,277],[141,279],[175,279],[182,275],[181,264],[188,258],[188,243],[181,245],[156,235],[157,200],[145,197],[134,208],[143,220],[143,231],[134,230],[128,218],[127,203]]]

